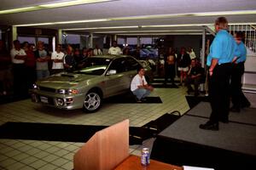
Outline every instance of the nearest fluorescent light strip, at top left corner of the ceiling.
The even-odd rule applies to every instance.
[[[74,5],[86,4],[86,3],[105,3],[109,1],[117,1],[117,0],[74,0],[74,1],[62,1],[58,3],[45,3],[45,4],[39,4],[31,7],[1,10],[0,14],[14,14],[14,13],[36,11],[41,9],[69,7]]]

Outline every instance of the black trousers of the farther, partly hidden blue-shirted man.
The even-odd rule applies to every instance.
[[[230,81],[230,94],[233,107],[240,109],[242,105],[248,105],[249,101],[241,91],[241,77],[244,73],[244,62],[233,64]]]

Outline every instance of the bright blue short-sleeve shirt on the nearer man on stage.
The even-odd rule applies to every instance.
[[[240,52],[234,37],[226,30],[218,31],[207,56],[207,65],[211,65],[212,59],[218,59],[218,65],[231,63],[235,56],[240,56]]]

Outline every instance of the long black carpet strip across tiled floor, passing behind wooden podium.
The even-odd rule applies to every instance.
[[[165,127],[175,122],[179,116],[166,113],[148,122],[143,127],[129,127],[129,143],[143,144],[143,140],[153,138]],[[163,121],[163,123],[160,123]],[[30,139],[62,142],[86,142],[106,126],[55,124],[37,122],[6,122],[0,126],[0,139]]]

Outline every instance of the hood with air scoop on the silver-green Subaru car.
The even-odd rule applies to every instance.
[[[71,88],[77,87],[80,82],[84,82],[86,84],[86,82],[89,82],[91,79],[96,77],[99,76],[74,73],[61,73],[39,80],[37,82],[37,85],[47,88]]]

